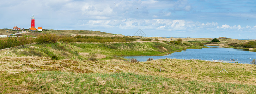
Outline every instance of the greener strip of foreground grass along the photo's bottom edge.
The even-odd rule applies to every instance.
[[[21,83],[3,83],[0,93],[255,93],[256,86],[172,79],[133,73],[38,71],[14,75]],[[6,76],[12,78],[12,75]],[[7,79],[3,79],[7,80]],[[18,79],[17,79],[18,80]],[[7,80],[9,81],[9,80]],[[9,87],[9,85],[13,87]],[[246,89],[245,89],[246,88]]]

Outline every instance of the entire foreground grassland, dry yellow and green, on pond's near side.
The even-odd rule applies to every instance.
[[[202,60],[0,59],[1,93],[255,93],[255,65]],[[161,72],[160,72],[161,67]],[[192,68],[192,73],[191,73]],[[218,73],[222,69],[227,73]],[[253,73],[250,73],[252,69]]]

